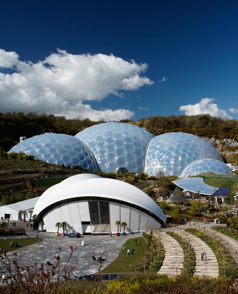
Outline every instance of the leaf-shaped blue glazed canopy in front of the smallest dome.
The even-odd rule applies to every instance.
[[[203,195],[213,195],[219,188],[212,187],[204,183],[203,178],[182,178],[176,181],[172,181],[178,187],[193,192],[200,193]]]

